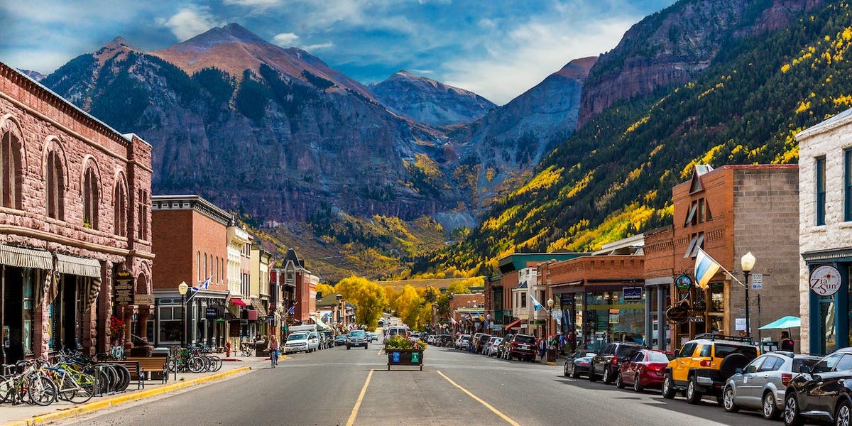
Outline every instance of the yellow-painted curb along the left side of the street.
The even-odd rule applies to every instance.
[[[61,412],[51,412],[49,414],[43,414],[41,416],[33,416],[27,420],[13,421],[10,423],[3,423],[3,426],[35,426],[37,424],[47,424],[53,423],[57,420],[62,420],[70,417],[78,417],[83,414],[88,414],[89,412],[96,412],[98,410],[102,410],[104,408],[108,408],[111,406],[121,406],[127,404],[129,402],[134,402],[137,400],[142,400],[145,398],[150,398],[154,395],[164,394],[166,392],[171,392],[173,390],[189,388],[201,383],[213,382],[224,377],[233,376],[235,374],[239,374],[245,371],[250,371],[250,366],[235,368],[230,371],[224,371],[221,373],[211,374],[210,376],[194,378],[193,380],[187,380],[186,382],[179,382],[174,384],[166,385],[162,388],[157,389],[149,389],[142,390],[139,392],[134,392],[132,394],[115,396],[106,400],[99,400],[95,402],[90,402],[89,404],[85,404],[83,406],[75,406],[73,408],[69,408],[67,410],[63,410]]]

